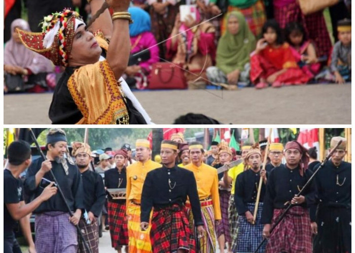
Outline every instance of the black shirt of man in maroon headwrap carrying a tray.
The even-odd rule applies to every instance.
[[[122,171],[119,172],[118,168],[111,168],[108,171],[105,171],[105,187],[108,189],[116,188],[126,188],[127,186],[127,173],[126,167],[122,168]],[[110,193],[108,194],[109,201],[121,203],[126,202],[124,199],[112,199]]]

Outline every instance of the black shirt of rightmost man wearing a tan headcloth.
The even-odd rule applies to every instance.
[[[315,185],[319,206],[351,208],[351,163],[342,161],[335,166],[329,160],[315,175]]]

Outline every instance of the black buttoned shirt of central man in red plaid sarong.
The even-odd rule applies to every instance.
[[[189,197],[195,225],[203,225],[194,174],[176,165],[172,168],[163,166],[150,171],[143,185],[140,221],[149,221],[152,207],[183,205],[187,197]]]

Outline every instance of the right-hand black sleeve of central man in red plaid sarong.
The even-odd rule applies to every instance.
[[[189,172],[189,184],[188,185],[188,193],[187,195],[189,196],[190,204],[191,204],[191,210],[192,214],[194,216],[194,221],[195,221],[195,226],[203,225],[202,222],[202,216],[201,216],[201,205],[200,205],[200,199],[198,198],[198,192],[197,192],[197,184],[196,184],[196,179],[195,176],[192,172]]]

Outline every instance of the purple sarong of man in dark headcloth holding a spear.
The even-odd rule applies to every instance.
[[[65,212],[36,214],[34,220],[37,253],[77,253],[77,228]]]

